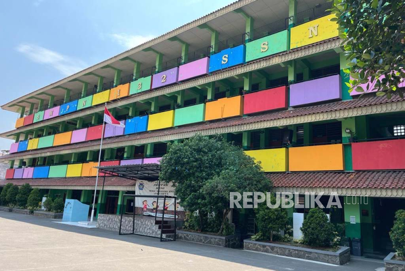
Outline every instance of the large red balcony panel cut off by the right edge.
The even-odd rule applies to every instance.
[[[405,139],[353,143],[353,169],[405,169],[404,153]]]

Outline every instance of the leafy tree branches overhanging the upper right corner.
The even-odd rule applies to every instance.
[[[404,0],[333,0],[350,74],[351,92],[377,89],[377,96],[399,94],[405,81]],[[371,84],[362,89],[360,84]]]

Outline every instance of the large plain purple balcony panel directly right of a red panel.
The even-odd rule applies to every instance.
[[[290,85],[290,106],[342,99],[342,80],[333,75]]]

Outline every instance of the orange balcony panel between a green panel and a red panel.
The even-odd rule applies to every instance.
[[[235,96],[207,102],[205,105],[205,120],[219,119],[243,115],[243,97]]]

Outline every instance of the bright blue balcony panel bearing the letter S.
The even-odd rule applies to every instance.
[[[208,72],[212,73],[218,70],[226,69],[245,62],[246,47],[244,44],[225,49],[209,58]],[[227,57],[224,57],[227,55]],[[226,62],[222,64],[222,62]]]

